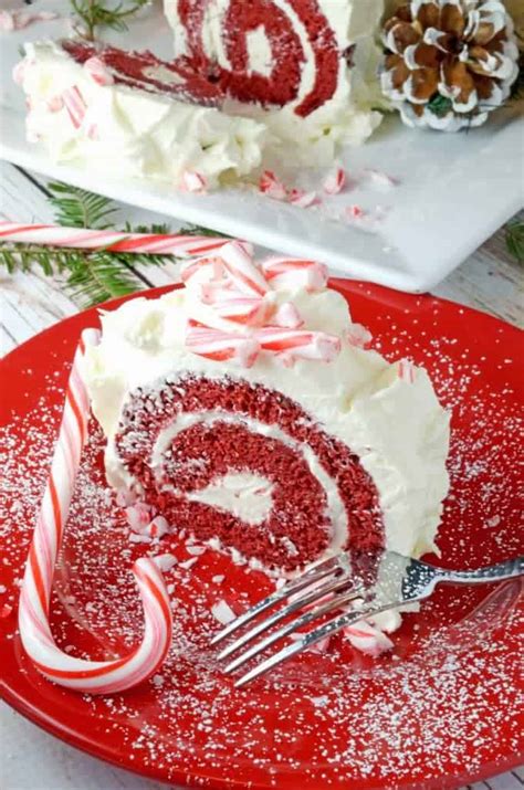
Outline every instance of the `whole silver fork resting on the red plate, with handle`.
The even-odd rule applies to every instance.
[[[429,598],[437,584],[479,584],[513,579],[522,575],[524,575],[524,557],[479,570],[455,571],[434,568],[427,562],[402,557],[395,551],[384,551],[375,565],[369,561],[363,562],[358,558],[352,561],[348,554],[339,554],[317,562],[281,590],[255,603],[216,634],[211,644],[218,644],[231,634],[235,634],[239,629],[251,623],[263,612],[287,601],[286,605],[275,609],[266,618],[259,620],[219,654],[219,660],[224,660],[238,653],[241,647],[245,647],[226,666],[224,672],[229,674],[244,666],[248,661],[285,636],[294,638],[290,644],[242,675],[234,684],[240,687],[347,625]],[[371,578],[375,581],[371,581]],[[340,610],[347,605],[358,605],[358,609],[340,613]],[[319,618],[337,611],[339,613],[336,617],[318,628],[297,633],[301,629],[314,624]],[[295,617],[290,619],[292,615]],[[283,620],[287,622],[272,630]],[[261,636],[259,641],[256,641],[258,636]]]

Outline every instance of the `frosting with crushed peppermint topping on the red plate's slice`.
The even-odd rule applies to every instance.
[[[113,442],[133,392],[181,373],[244,381],[291,399],[359,457],[379,494],[388,548],[432,549],[449,486],[449,414],[427,372],[369,348],[369,333],[314,262],[256,263],[237,242],[189,262],[182,276],[182,288],[101,316],[86,380],[113,484],[125,474]]]

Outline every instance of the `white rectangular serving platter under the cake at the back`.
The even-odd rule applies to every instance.
[[[411,130],[389,117],[366,145],[344,150],[340,161],[357,186],[331,199],[329,212],[342,213],[350,204],[378,212],[373,230],[365,222],[331,219],[323,207],[301,209],[255,190],[191,196],[169,185],[109,177],[96,170],[96,162],[88,169],[57,166],[39,144],[25,140],[24,98],[11,71],[23,42],[70,35],[70,8],[62,0],[41,0],[31,11],[56,10],[62,18],[0,32],[0,157],[15,165],[284,254],[317,259],[337,274],[409,292],[442,281],[524,203],[522,103],[460,134]],[[164,57],[171,51],[159,6],[112,40]],[[386,189],[360,178],[368,169],[387,172],[398,186]]]

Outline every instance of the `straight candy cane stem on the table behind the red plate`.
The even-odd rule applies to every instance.
[[[203,255],[230,243],[229,239],[213,236],[94,231],[87,228],[20,224],[17,222],[0,222],[0,242],[2,241],[43,246],[67,246],[76,250],[103,249],[111,252],[161,253],[179,257]]]

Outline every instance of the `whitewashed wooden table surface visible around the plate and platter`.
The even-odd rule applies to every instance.
[[[123,207],[132,222],[161,221],[148,212]],[[7,162],[0,162],[0,218],[21,222],[52,221],[45,181]],[[174,227],[171,220],[169,224]],[[140,272],[144,287],[178,280],[177,265]],[[441,283],[433,294],[523,325],[524,267],[511,257],[501,229]],[[0,350],[6,354],[45,327],[77,310],[65,295],[59,276],[39,272],[9,275],[0,270]],[[98,762],[38,729],[6,706],[1,712],[6,790],[160,790],[165,786],[134,777]],[[31,760],[28,762],[28,752]],[[522,790],[524,771],[512,771],[474,790]]]

